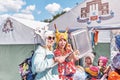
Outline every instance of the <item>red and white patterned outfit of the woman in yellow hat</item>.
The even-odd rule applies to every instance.
[[[59,49],[54,51],[55,56],[63,56],[70,53],[71,50],[66,50],[62,53]],[[58,64],[59,78],[61,80],[73,80],[72,75],[76,72],[76,67],[73,61],[63,62]]]

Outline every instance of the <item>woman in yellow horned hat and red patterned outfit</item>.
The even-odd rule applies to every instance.
[[[73,51],[71,45],[68,43],[68,33],[59,32],[56,28],[56,49],[55,56],[67,56],[65,61],[58,64],[58,72],[60,80],[74,80],[73,75],[76,72],[75,61],[78,60],[79,51]],[[69,55],[69,56],[68,56]]]

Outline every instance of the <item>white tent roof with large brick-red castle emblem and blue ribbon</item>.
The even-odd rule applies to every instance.
[[[53,25],[56,24],[61,30],[66,27],[70,29],[95,26],[120,27],[119,3],[119,0],[85,0],[48,26],[53,29]]]

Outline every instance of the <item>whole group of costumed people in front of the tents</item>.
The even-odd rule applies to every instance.
[[[75,65],[80,52],[68,42],[68,29],[65,32],[59,32],[56,26],[55,29],[55,32],[36,30],[44,44],[38,46],[32,58],[35,80],[120,80],[120,53],[109,65],[106,56],[99,57],[98,65],[93,65],[91,56],[85,57],[84,66]]]

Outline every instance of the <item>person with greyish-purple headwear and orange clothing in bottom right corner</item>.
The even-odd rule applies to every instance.
[[[120,80],[120,53],[117,53],[112,59],[113,71],[108,75],[108,80]]]

